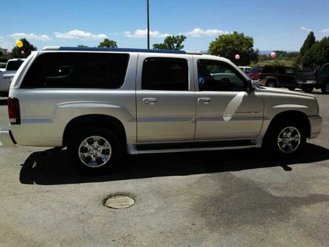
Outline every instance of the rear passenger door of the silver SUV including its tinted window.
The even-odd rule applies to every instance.
[[[136,105],[137,142],[193,140],[193,57],[139,54]]]

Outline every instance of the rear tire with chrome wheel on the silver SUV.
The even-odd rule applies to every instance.
[[[72,132],[68,145],[71,163],[86,175],[107,172],[121,157],[118,137],[106,128],[93,126]]]

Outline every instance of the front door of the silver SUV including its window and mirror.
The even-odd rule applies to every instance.
[[[195,139],[256,138],[263,125],[262,93],[245,92],[247,78],[229,62],[199,59],[194,68]]]

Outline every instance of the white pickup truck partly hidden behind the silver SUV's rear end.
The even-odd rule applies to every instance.
[[[20,68],[25,59],[10,59],[7,62],[6,69],[0,71],[0,96],[8,96],[12,78]]]

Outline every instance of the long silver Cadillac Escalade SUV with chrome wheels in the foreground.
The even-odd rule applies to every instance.
[[[288,157],[315,138],[314,96],[259,86],[194,51],[45,47],[11,83],[5,146],[67,147],[89,171],[139,153],[260,148]]]

